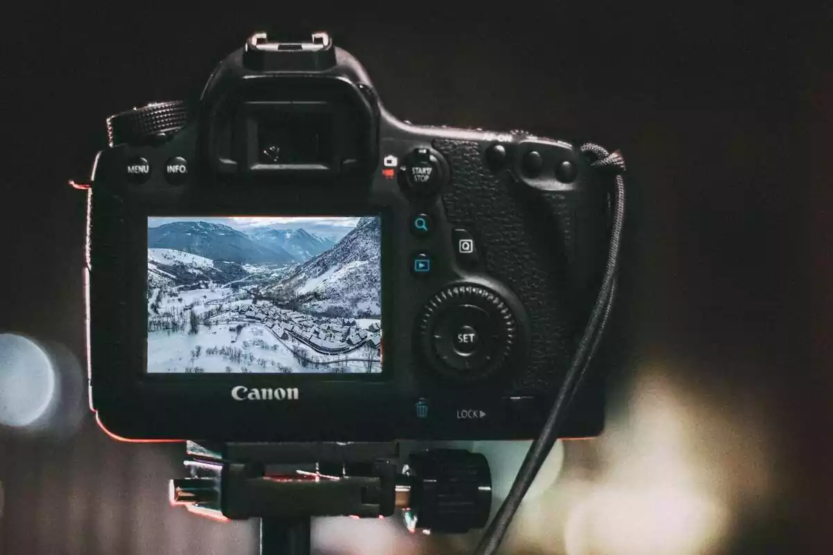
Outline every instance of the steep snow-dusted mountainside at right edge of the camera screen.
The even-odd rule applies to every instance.
[[[382,229],[377,217],[362,218],[330,250],[307,260],[264,293],[311,312],[380,315]]]

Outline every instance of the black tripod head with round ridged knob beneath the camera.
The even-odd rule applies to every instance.
[[[260,518],[262,553],[308,553],[309,519],[384,518],[401,509],[408,529],[465,533],[491,512],[486,458],[460,449],[411,453],[399,444],[198,444],[187,442],[190,478],[172,479],[172,505],[221,520]],[[272,532],[270,532],[272,528]],[[270,536],[279,538],[274,542]],[[275,548],[278,549],[277,547]]]

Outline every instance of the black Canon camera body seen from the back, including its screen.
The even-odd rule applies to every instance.
[[[415,126],[325,33],[249,39],[197,106],[112,116],[87,240],[91,406],[122,439],[531,439],[596,299],[579,146]],[[561,437],[601,432],[577,396]]]

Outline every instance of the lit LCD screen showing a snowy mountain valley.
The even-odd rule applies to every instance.
[[[147,372],[382,372],[379,216],[149,217]]]

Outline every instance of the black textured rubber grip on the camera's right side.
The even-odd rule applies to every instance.
[[[566,372],[588,306],[576,295],[571,272],[581,254],[581,195],[539,191],[507,172],[493,173],[476,142],[435,140],[434,147],[452,168],[442,196],[448,220],[476,236],[486,272],[508,285],[529,315],[529,364],[517,374],[513,393],[550,391]]]

